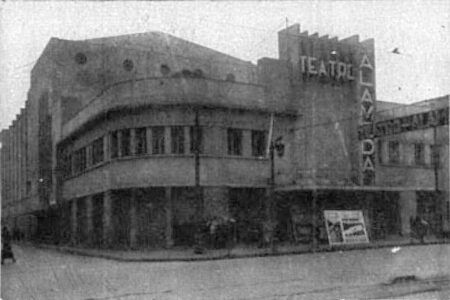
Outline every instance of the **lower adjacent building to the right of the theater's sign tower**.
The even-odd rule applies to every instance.
[[[419,215],[435,233],[450,232],[449,103],[448,95],[409,105],[378,101],[374,133],[378,185],[401,187],[400,217]]]

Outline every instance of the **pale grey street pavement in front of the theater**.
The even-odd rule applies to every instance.
[[[450,245],[197,262],[120,262],[17,246],[2,299],[450,299]]]

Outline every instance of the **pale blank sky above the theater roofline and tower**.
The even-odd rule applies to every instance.
[[[288,24],[340,39],[374,38],[377,98],[450,94],[450,1],[1,3],[0,129],[24,106],[30,70],[51,37],[163,31],[256,62],[277,57]],[[401,55],[393,54],[399,48]]]

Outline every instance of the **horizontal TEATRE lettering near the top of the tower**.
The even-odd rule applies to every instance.
[[[335,80],[353,81],[353,65],[336,60],[320,60],[313,56],[300,56],[302,74],[328,77]]]

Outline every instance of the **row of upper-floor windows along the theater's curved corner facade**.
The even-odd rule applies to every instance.
[[[202,127],[171,126],[170,153],[185,154],[204,153],[204,130]],[[189,135],[189,149],[185,149],[186,134]],[[266,131],[251,131],[251,154],[255,157],[265,155]],[[109,134],[109,156],[111,159],[119,157],[166,154],[166,127],[141,127],[134,129],[121,129]],[[79,148],[73,153],[65,153],[61,157],[63,176],[69,177],[86,170],[88,165],[95,166],[106,160],[105,137],[94,140],[91,144]],[[89,152],[89,155],[88,155]],[[227,129],[227,154],[243,155],[243,130],[236,128]],[[89,160],[89,161],[88,161]]]

